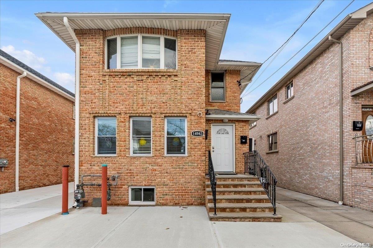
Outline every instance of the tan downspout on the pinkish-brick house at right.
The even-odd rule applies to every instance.
[[[339,205],[343,204],[343,49],[342,42],[329,35],[329,41],[339,44]]]

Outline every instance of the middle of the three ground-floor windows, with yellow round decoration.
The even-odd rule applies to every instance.
[[[131,155],[151,155],[151,118],[131,118]]]

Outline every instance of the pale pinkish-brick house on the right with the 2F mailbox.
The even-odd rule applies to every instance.
[[[372,12],[370,3],[345,17],[246,112],[263,116],[250,138],[280,187],[370,211]]]

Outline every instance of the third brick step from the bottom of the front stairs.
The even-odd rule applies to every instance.
[[[212,195],[207,196],[207,202],[213,203]],[[270,203],[267,195],[217,195],[216,203]]]

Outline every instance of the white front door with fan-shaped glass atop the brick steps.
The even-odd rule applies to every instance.
[[[213,125],[211,158],[215,172],[233,172],[233,125]]]

